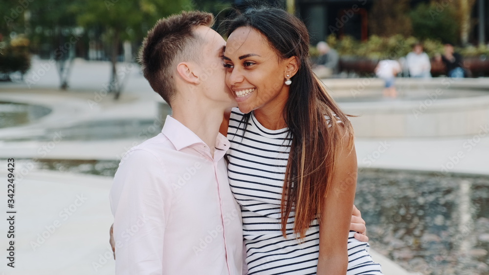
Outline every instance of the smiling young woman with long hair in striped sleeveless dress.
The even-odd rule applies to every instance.
[[[228,21],[227,137],[248,275],[381,274],[349,232],[356,152],[347,116],[311,71],[302,21],[253,8]],[[347,242],[348,240],[348,242]]]

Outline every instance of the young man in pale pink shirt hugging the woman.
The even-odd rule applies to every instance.
[[[224,82],[225,42],[212,23],[211,14],[182,12],[158,21],[143,43],[144,76],[173,115],[127,152],[115,174],[117,275],[242,274],[241,212],[223,159],[229,141],[219,133],[236,102]],[[365,232],[354,214],[351,229]]]

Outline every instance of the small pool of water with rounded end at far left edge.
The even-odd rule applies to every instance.
[[[0,101],[0,128],[24,125],[50,112],[44,106]]]

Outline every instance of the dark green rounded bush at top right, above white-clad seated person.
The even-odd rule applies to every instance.
[[[453,5],[442,6],[431,1],[420,3],[409,13],[413,34],[422,40],[441,40],[444,43],[455,44],[458,41],[459,24]]]

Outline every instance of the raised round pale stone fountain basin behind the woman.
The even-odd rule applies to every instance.
[[[477,135],[489,125],[489,79],[397,79],[399,97],[382,98],[378,78],[324,80],[357,137]]]

